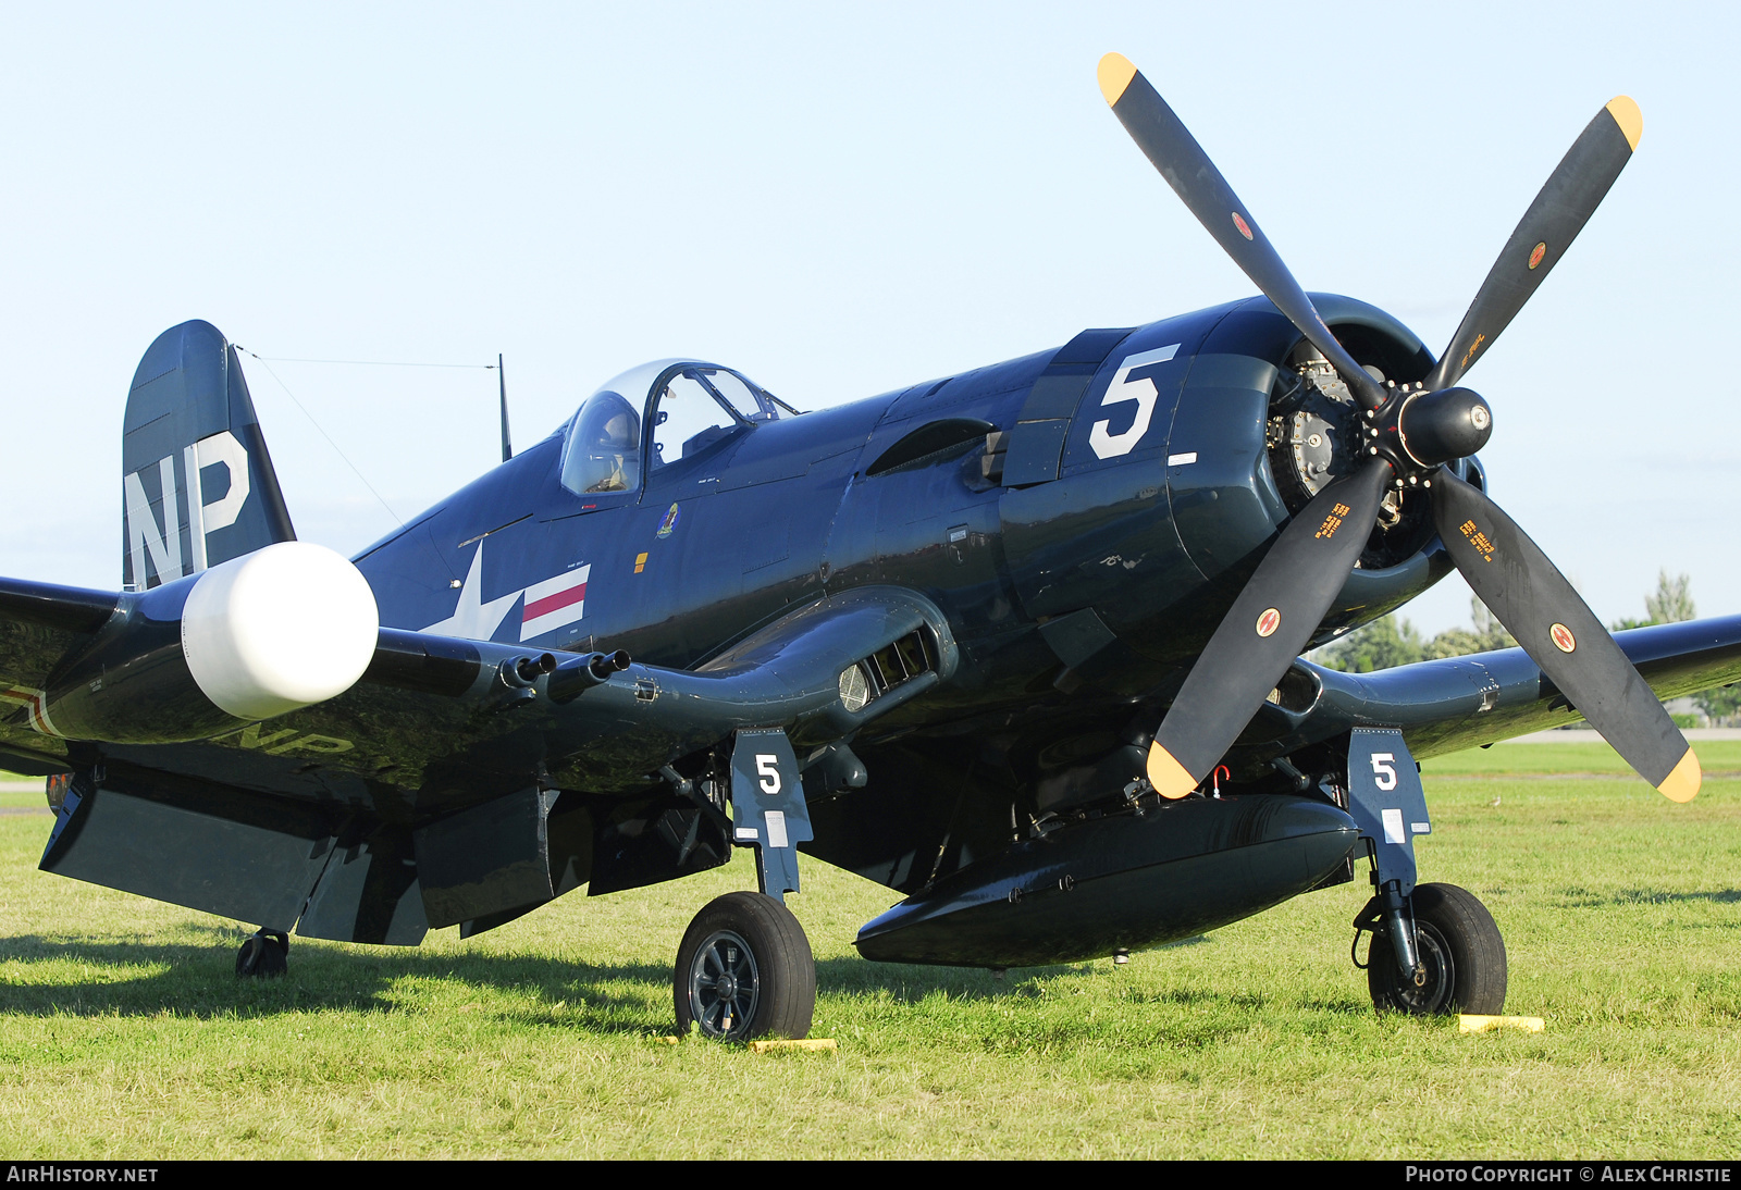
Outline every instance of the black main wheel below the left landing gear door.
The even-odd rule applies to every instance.
[[[817,1011],[817,960],[789,910],[761,892],[726,892],[695,915],[677,948],[677,1032],[804,1037]]]

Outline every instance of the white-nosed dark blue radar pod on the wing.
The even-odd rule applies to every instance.
[[[40,722],[68,739],[211,739],[343,694],[378,635],[374,592],[357,567],[284,541],[125,595],[50,675]]]

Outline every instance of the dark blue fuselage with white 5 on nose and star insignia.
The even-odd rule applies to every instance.
[[[1396,381],[1426,374],[1431,357],[1395,318],[1318,301],[1363,364]],[[674,668],[825,593],[893,583],[935,600],[963,651],[949,689],[893,725],[1081,680],[1130,699],[1201,649],[1290,515],[1271,468],[1271,407],[1294,379],[1297,343],[1264,299],[1088,331],[1052,351],[742,425],[620,491],[559,482],[575,433],[564,426],[357,565],[388,626],[627,649]],[[651,423],[651,402],[646,412]],[[648,425],[642,454],[651,438]],[[1321,635],[1449,569],[1436,539],[1415,536],[1402,560],[1351,574]]]

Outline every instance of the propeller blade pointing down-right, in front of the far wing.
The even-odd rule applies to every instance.
[[[1433,482],[1433,520],[1462,578],[1590,725],[1664,797],[1691,802],[1699,759],[1548,555],[1478,487],[1447,471]]]

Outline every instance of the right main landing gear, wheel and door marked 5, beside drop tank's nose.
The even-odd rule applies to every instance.
[[[1374,896],[1354,919],[1354,966],[1367,969],[1372,1006],[1412,1016],[1502,1013],[1506,943],[1492,913],[1454,884],[1415,884],[1414,837],[1433,826],[1400,731],[1353,731],[1348,792],[1372,854]],[[1368,931],[1361,964],[1360,934]]]

